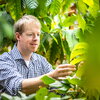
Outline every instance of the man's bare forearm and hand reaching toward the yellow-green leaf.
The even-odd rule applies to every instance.
[[[59,77],[65,77],[70,75],[74,70],[75,70],[74,65],[62,64],[59,65],[54,71],[49,72],[45,75],[58,79]],[[43,76],[44,75],[36,78],[24,79],[22,81],[22,92],[24,92],[25,94],[32,94],[36,92],[40,86],[42,87],[46,86],[41,80],[41,77]]]

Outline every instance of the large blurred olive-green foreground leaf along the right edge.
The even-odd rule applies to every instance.
[[[92,32],[88,36],[88,57],[83,74],[81,75],[83,81],[83,88],[87,93],[88,100],[100,99],[100,14],[96,18]]]

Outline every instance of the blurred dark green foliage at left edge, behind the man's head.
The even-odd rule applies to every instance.
[[[12,27],[13,20],[7,13],[2,12],[2,15],[0,16],[0,23],[1,23],[0,24],[0,54],[1,54],[5,51],[9,51],[8,46],[9,45],[12,46],[13,44],[12,40],[14,34]]]

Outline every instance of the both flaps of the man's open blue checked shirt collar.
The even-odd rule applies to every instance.
[[[18,50],[16,44],[14,45],[13,49],[11,50],[11,54],[12,54],[14,59],[23,59],[23,57],[22,57],[20,51]],[[37,54],[32,53],[31,59],[33,61],[37,60],[38,59]]]

